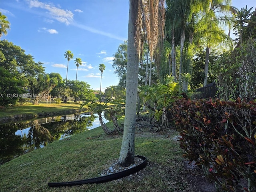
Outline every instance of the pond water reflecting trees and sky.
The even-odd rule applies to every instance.
[[[104,122],[109,122],[104,118]],[[97,114],[80,113],[0,125],[0,164],[54,140],[65,139],[100,126]]]

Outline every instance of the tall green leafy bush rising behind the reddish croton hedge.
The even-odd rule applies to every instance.
[[[222,54],[215,63],[214,70],[218,71],[220,98],[256,98],[256,41],[248,40],[233,51]]]

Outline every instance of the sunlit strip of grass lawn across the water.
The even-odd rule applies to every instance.
[[[38,105],[26,104],[26,105],[15,105],[10,106],[8,108],[0,108],[0,118],[14,116],[19,114],[32,114],[36,116],[38,113],[42,112],[61,112],[72,109],[79,109],[80,104],[69,102],[69,103],[61,103],[61,104],[46,104],[40,103]]]

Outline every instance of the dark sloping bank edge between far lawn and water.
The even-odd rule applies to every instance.
[[[36,118],[44,118],[44,117],[51,117],[51,116],[58,116],[58,115],[68,115],[68,114],[75,114],[79,112],[83,112],[82,109],[70,109],[70,110],[60,110],[54,112],[40,112],[37,114],[28,113],[28,114],[17,114],[13,116],[5,116],[0,118],[0,124],[6,124],[14,121],[23,121],[23,120],[31,120]]]

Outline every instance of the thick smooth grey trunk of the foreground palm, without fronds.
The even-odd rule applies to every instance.
[[[118,164],[130,166],[134,164],[134,140],[136,123],[136,101],[138,88],[139,58],[135,45],[136,19],[138,1],[130,0],[128,42],[127,42],[127,75],[126,75],[126,107],[124,118],[124,135]]]

